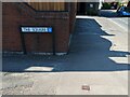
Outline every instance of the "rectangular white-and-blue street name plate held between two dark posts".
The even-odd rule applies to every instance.
[[[22,32],[52,32],[52,27],[22,27]]]

